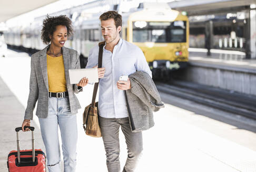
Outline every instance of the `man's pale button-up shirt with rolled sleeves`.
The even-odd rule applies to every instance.
[[[86,68],[97,66],[98,57],[97,45],[89,52]],[[99,115],[107,118],[128,117],[124,91],[117,88],[117,81],[120,76],[129,76],[136,71],[147,72],[152,77],[142,50],[120,38],[113,53],[103,47],[102,67],[105,68],[105,74],[99,84]]]

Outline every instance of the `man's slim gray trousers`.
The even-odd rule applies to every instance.
[[[119,128],[121,126],[128,150],[123,172],[134,171],[143,150],[142,132],[132,133],[128,117],[115,119],[99,116],[99,123],[106,150],[107,170],[109,172],[120,172]]]

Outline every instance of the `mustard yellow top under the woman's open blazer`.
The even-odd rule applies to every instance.
[[[47,74],[50,92],[67,91],[63,56],[51,57],[47,55]]]

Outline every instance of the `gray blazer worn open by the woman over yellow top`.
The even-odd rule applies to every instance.
[[[31,56],[29,96],[24,116],[24,119],[27,120],[33,120],[33,111],[37,100],[36,115],[42,118],[46,118],[48,115],[49,88],[46,57],[48,47],[49,46]],[[63,47],[62,52],[70,109],[72,114],[76,114],[81,106],[74,93],[81,92],[83,89],[78,89],[76,84],[70,84],[68,69],[79,69],[80,59],[76,50]]]

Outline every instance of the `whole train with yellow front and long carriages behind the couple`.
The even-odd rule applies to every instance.
[[[66,41],[65,46],[80,53],[82,68],[86,66],[90,49],[104,40],[99,19],[103,12],[88,13],[90,10],[86,6],[92,6],[92,3],[50,15],[62,14],[72,19],[74,34]],[[109,10],[118,11],[118,4],[112,5]],[[140,3],[121,14],[121,38],[141,48],[154,78],[169,76],[170,71],[183,69],[188,65],[187,16],[172,10],[166,3]],[[31,53],[43,49],[45,45],[41,41],[41,29],[44,18],[45,16],[36,17],[30,24],[9,28],[5,33],[7,45]]]

